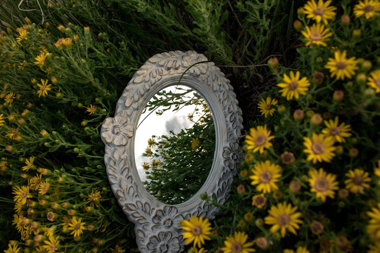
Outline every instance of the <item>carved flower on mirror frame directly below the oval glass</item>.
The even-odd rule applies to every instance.
[[[179,223],[183,220],[183,216],[178,214],[178,210],[174,206],[166,205],[164,209],[158,209],[153,217],[154,225],[152,229],[160,230],[178,230]]]

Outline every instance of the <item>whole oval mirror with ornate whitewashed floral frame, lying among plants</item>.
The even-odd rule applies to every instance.
[[[182,85],[184,88],[180,88],[178,85]],[[165,90],[168,87],[169,90]],[[136,137],[136,133],[140,135],[139,121],[145,118],[141,115],[149,111],[149,107],[155,108],[160,103],[157,102],[159,97],[169,96],[170,89],[173,87],[176,87],[177,90],[179,90],[178,88],[183,89],[180,91],[182,93],[193,90],[186,95],[179,95],[179,97],[202,98],[204,102],[197,100],[195,104],[199,103],[200,107],[201,105],[208,106],[208,109],[202,108],[205,116],[197,119],[197,121],[208,122],[209,129],[202,130],[206,132],[202,134],[200,129],[194,129],[194,125],[196,128],[203,127],[203,123],[194,124],[193,128],[183,126],[184,139],[179,138],[177,149],[191,152],[189,156],[180,156],[175,151],[169,152],[165,146],[165,142],[172,141],[171,138],[181,135],[182,130],[175,129],[172,133],[169,131],[169,134],[160,133],[154,137],[151,137],[151,132],[147,132],[150,136],[142,137],[144,139],[142,141],[138,141]],[[193,95],[190,95],[191,93]],[[175,94],[173,92],[170,96],[176,97]],[[191,104],[191,101],[192,99],[185,104]],[[173,108],[179,110],[182,106],[180,103],[171,103],[173,105],[169,110]],[[155,112],[164,111],[167,106],[164,104],[164,108],[157,108]],[[202,114],[202,110],[199,111],[200,114]],[[170,112],[172,115],[175,114],[175,111]],[[193,119],[193,121],[195,120]],[[210,123],[211,120],[213,126]],[[176,121],[169,123],[174,122]],[[156,123],[150,124],[149,128],[150,130],[156,129]],[[212,129],[214,131],[211,131]],[[181,235],[180,222],[191,216],[202,216],[208,219],[215,217],[218,208],[207,199],[201,198],[201,195],[206,194],[217,205],[225,202],[236,173],[236,152],[239,148],[238,140],[241,129],[241,110],[230,81],[204,55],[194,51],[157,54],[149,58],[136,71],[118,100],[115,115],[104,120],[101,138],[105,144],[104,163],[110,186],[124,213],[135,224],[136,242],[141,252],[181,252],[184,249],[185,240]],[[146,138],[154,140],[151,139],[147,144]],[[190,138],[193,146],[188,145]],[[164,178],[164,175],[156,175],[156,171],[153,170],[151,172],[148,170],[145,179],[140,179],[138,171],[142,165],[138,157],[141,151],[135,152],[135,147],[139,146],[140,142],[145,146],[156,145],[154,149],[152,149],[153,146],[150,147],[148,152],[155,153],[156,163],[157,159],[163,162],[163,157],[168,155],[171,156],[171,159],[164,162],[168,164],[181,162],[181,165],[178,166],[183,164],[185,167],[183,170],[178,168],[178,171],[170,175],[168,179]],[[170,145],[171,143],[169,143]],[[214,147],[214,151],[211,147]],[[145,151],[142,153],[146,153]],[[167,154],[167,152],[169,153]],[[203,156],[197,156],[197,152],[204,152],[205,154],[202,155],[205,156],[207,153],[213,155],[200,161]],[[187,161],[190,162],[185,164],[181,159],[188,159]],[[153,159],[145,162],[149,163],[150,167]],[[202,166],[195,168],[198,162]],[[174,164],[171,166],[175,166]],[[154,165],[156,168],[161,168],[162,164]],[[168,168],[170,166],[163,171],[171,174]],[[193,174],[197,174],[196,170],[201,175],[191,178],[194,176]],[[188,173],[186,176],[182,175],[181,180],[184,180],[181,183],[182,186],[171,185],[177,176],[181,176],[180,172]],[[193,186],[186,184],[187,180],[196,182],[196,187],[189,188]],[[172,190],[173,187],[176,190]],[[171,192],[163,194],[163,191],[169,190]],[[180,194],[177,195],[177,192]]]

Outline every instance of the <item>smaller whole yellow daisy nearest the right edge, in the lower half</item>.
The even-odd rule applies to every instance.
[[[364,172],[360,168],[355,168],[355,170],[350,170],[346,173],[346,177],[349,179],[345,180],[346,188],[352,193],[364,194],[364,189],[368,189],[370,186],[367,184],[371,181],[368,172]]]

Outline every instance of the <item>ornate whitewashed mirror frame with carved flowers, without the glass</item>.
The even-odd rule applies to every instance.
[[[196,64],[198,63],[198,64]],[[160,90],[185,85],[207,102],[216,131],[214,160],[201,189],[183,203],[170,205],[152,197],[142,184],[134,156],[134,134],[146,103]],[[223,204],[236,173],[236,150],[242,112],[230,81],[214,63],[194,51],[157,54],[133,75],[116,106],[114,117],[102,124],[104,162],[113,193],[135,224],[141,252],[180,252],[184,249],[180,221],[190,216],[213,219],[217,207],[201,195]]]

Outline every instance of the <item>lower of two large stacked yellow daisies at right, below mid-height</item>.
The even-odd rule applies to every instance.
[[[320,198],[322,202],[326,201],[326,197],[334,198],[334,190],[339,189],[338,183],[335,181],[335,175],[326,173],[322,168],[319,171],[312,168],[309,171],[309,175],[310,191],[315,192],[317,198]]]

